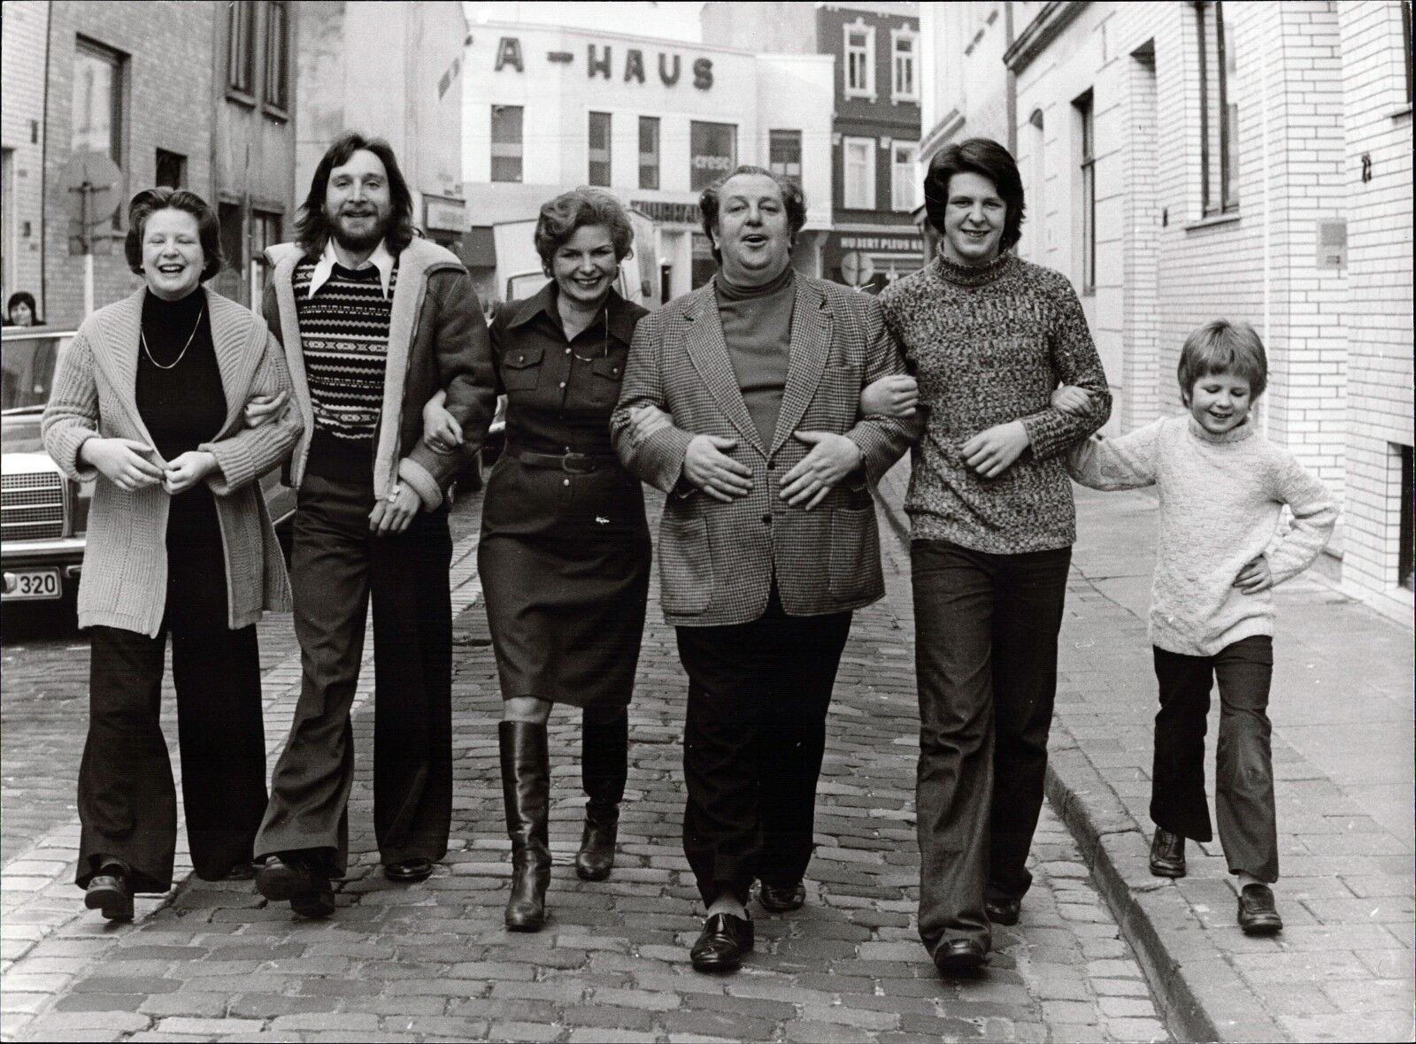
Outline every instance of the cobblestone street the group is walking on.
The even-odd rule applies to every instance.
[[[72,886],[72,779],[86,651],[72,634],[6,651],[4,1038],[1165,1038],[1140,966],[1051,809],[1022,922],[995,932],[988,972],[943,980],[919,945],[912,621],[908,564],[889,542],[891,597],[857,614],[835,689],[807,907],[755,911],[758,949],[736,976],[688,968],[701,910],[680,849],[685,683],[656,604],[615,873],[588,884],[571,870],[583,805],[579,721],[558,712],[552,750],[565,754],[554,762],[551,924],[507,934],[500,697],[474,576],[479,512],[480,498],[455,512],[453,850],[421,886],[378,873],[368,829],[372,703],[361,693],[358,856],[326,922],[292,920],[249,883],[195,878],[142,900],[132,925],[84,911]],[[263,625],[262,656],[275,751],[299,682],[287,618]]]

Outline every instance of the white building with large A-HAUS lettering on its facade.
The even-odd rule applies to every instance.
[[[575,185],[615,192],[653,226],[646,297],[705,283],[698,194],[741,163],[797,178],[809,212],[793,265],[820,272],[831,226],[831,62],[596,30],[479,23],[464,52],[463,166],[480,290],[496,226]],[[641,236],[643,238],[643,236]],[[530,242],[530,233],[527,233]]]

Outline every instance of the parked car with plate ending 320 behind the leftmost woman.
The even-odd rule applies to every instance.
[[[0,331],[0,600],[74,601],[84,566],[93,482],[74,482],[44,451],[40,419],[54,364],[72,330],[7,327]],[[286,533],[295,491],[279,468],[261,477],[276,532]]]

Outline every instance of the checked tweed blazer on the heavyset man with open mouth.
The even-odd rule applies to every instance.
[[[783,608],[796,617],[843,613],[885,593],[869,487],[909,448],[918,422],[862,417],[860,396],[877,378],[903,372],[879,301],[797,274],[792,358],[766,446],[738,388],[712,283],[639,321],[610,434],[624,465],[670,494],[658,529],[668,622],[756,620],[773,576]],[[673,424],[634,441],[629,412],[643,405],[666,410]],[[837,485],[811,511],[789,505],[779,497],[782,475],[810,450],[794,431],[855,441],[865,482]],[[752,492],[722,504],[684,491],[684,454],[698,434],[738,440],[728,456],[752,470]]]

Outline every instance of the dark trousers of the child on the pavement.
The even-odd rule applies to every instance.
[[[1160,712],[1151,768],[1151,819],[1182,837],[1206,842],[1205,724],[1209,690],[1219,679],[1219,747],[1215,811],[1229,873],[1279,880],[1279,832],[1273,809],[1269,685],[1273,639],[1243,638],[1214,656],[1155,649]]]

